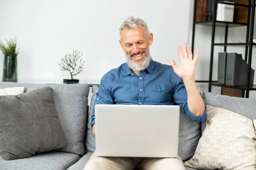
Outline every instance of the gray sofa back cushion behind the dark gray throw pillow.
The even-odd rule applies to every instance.
[[[87,117],[89,84],[20,84],[0,82],[0,89],[7,87],[25,87],[29,92],[44,86],[53,89],[55,107],[61,122],[61,127],[67,138],[67,146],[58,150],[61,152],[84,155],[84,134]]]

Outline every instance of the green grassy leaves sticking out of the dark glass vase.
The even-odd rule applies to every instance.
[[[7,42],[7,46],[5,46],[3,44],[3,42],[0,40],[0,49],[1,51],[3,52],[3,55],[4,56],[10,56],[10,57],[17,57],[17,55],[19,54],[18,50],[16,50],[16,47],[17,47],[17,39],[15,37],[15,39],[11,39],[8,41],[6,40]]]

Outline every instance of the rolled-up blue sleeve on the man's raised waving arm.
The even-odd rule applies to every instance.
[[[188,107],[188,96],[186,92],[185,85],[183,83],[183,80],[181,78],[175,78],[176,82],[174,84],[174,89],[172,91],[172,96],[174,98],[174,101],[176,104],[178,104],[182,110],[183,113],[185,113],[189,118],[196,122],[202,122],[206,119],[207,113],[206,113],[206,104],[204,103],[204,114],[197,116],[194,115],[192,112],[190,112],[189,107]]]

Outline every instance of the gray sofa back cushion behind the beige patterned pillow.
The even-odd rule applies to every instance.
[[[204,102],[213,107],[236,112],[250,119],[256,119],[256,98],[238,98],[228,95],[214,95],[211,92],[203,92],[202,98]],[[202,133],[206,127],[206,122],[202,123]]]

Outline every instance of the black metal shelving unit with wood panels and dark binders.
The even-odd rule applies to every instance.
[[[234,2],[233,2],[234,1]],[[210,52],[210,65],[209,65],[209,80],[212,80],[212,72],[213,72],[213,65],[214,65],[214,47],[215,46],[223,46],[224,51],[227,50],[227,46],[231,46],[231,47],[245,47],[245,55],[246,58],[244,58],[244,60],[247,61],[247,58],[251,59],[252,57],[252,50],[254,49],[254,47],[256,46],[256,43],[253,43],[253,30],[254,30],[254,16],[255,16],[255,3],[256,0],[252,0],[250,1],[251,3],[248,3],[248,0],[208,0],[208,3],[204,3],[204,4],[200,4],[198,3],[197,0],[194,1],[194,15],[193,15],[193,30],[192,30],[192,47],[194,48],[194,41],[195,41],[195,29],[196,26],[195,25],[204,25],[204,26],[211,26],[212,29],[212,40],[211,40],[211,52]],[[235,6],[235,8],[237,8],[237,10],[239,11],[239,17],[241,15],[244,15],[244,17],[241,18],[234,18],[234,22],[228,22],[228,21],[218,21],[216,20],[217,16],[217,9],[218,9],[218,4],[227,4],[227,5],[231,5],[231,6]],[[212,8],[214,7],[214,8]],[[241,9],[241,11],[240,11]],[[250,13],[248,13],[249,11]],[[208,13],[207,13],[208,12]],[[210,12],[210,13],[209,13]],[[205,14],[208,16],[205,16]],[[213,20],[206,20],[206,18],[209,18],[209,14],[212,15],[210,18],[214,18]],[[248,18],[246,18],[246,16]],[[195,22],[197,20],[201,20],[200,22]],[[241,20],[240,20],[241,19]],[[203,20],[203,21],[202,21]],[[244,23],[241,23],[244,22]],[[228,41],[228,28],[229,27],[237,27],[237,26],[246,26],[247,30],[246,30],[246,41],[244,42],[232,42],[232,41]],[[215,42],[215,32],[216,27],[222,27],[225,28],[225,34],[223,36],[224,41],[221,42]],[[209,27],[210,29],[210,27]],[[236,35],[236,33],[235,33]],[[250,48],[248,50],[248,48]],[[251,60],[249,60],[251,62]],[[249,62],[248,61],[248,62]],[[250,63],[251,64],[251,63]],[[246,94],[242,94],[243,97],[245,98],[249,98],[249,92],[250,90],[254,90],[256,91],[256,85],[250,86],[247,89],[247,86],[227,86],[227,85],[223,85],[223,84],[218,84],[218,82],[216,81],[204,81],[204,80],[199,80],[196,81],[197,83],[207,83],[208,84],[208,91],[211,92],[212,90],[212,86],[220,86],[220,87],[225,87],[228,91],[232,91],[232,93],[235,93],[235,91],[246,91]]]

